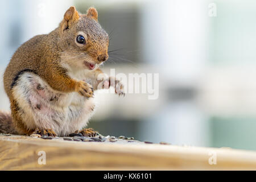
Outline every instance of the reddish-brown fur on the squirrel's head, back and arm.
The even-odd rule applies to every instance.
[[[84,52],[92,57],[94,63],[97,64],[101,63],[102,56],[108,59],[109,37],[98,24],[97,18],[98,13],[94,8],[90,8],[86,15],[81,15],[72,6],[64,14],[64,19],[59,27],[49,34],[31,38],[16,50],[6,68],[3,81],[5,92],[11,102],[11,116],[18,133],[31,134],[34,132],[27,129],[26,121],[20,117],[22,108],[19,108],[19,104],[13,96],[12,84],[20,71],[29,69],[35,72],[52,89],[59,92],[79,92],[82,96],[92,97],[93,92],[85,82],[68,76],[67,70],[61,66],[60,57],[63,52],[70,55],[79,55]],[[84,31],[87,35],[85,46],[79,47],[75,43],[78,31]],[[92,71],[94,76],[99,73],[102,73],[100,69]],[[0,113],[0,131],[2,128],[11,127],[10,123],[10,115]]]

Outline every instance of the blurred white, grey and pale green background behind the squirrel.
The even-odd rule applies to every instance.
[[[159,97],[97,92],[89,127],[102,135],[256,150],[254,0],[0,0],[0,71],[16,48],[48,34],[69,6],[96,7],[110,35],[104,71],[159,73]],[[1,77],[2,79],[2,77]],[[0,86],[0,108],[9,100]]]

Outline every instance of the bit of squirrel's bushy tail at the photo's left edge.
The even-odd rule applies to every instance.
[[[0,110],[0,133],[17,134],[11,121],[11,113]]]

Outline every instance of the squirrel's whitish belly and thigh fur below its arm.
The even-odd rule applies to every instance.
[[[52,129],[58,136],[81,130],[93,114],[94,99],[53,90],[34,73],[23,73],[13,88],[28,129]]]

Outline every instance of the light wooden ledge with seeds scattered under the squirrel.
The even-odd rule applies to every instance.
[[[46,152],[46,164],[38,163],[39,151]],[[0,136],[0,170],[112,169],[255,170],[256,152],[139,142],[73,142],[62,138]]]

